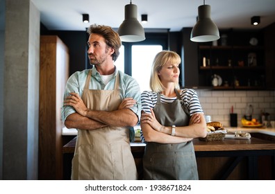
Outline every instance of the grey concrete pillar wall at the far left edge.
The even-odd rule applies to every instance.
[[[5,12],[2,179],[38,179],[40,12],[31,0]]]

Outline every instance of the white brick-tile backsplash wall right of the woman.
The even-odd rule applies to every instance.
[[[219,121],[229,126],[231,107],[238,114],[238,125],[247,106],[253,105],[253,118],[260,118],[261,112],[268,112],[275,120],[275,91],[211,91],[196,89],[205,115],[212,121]]]

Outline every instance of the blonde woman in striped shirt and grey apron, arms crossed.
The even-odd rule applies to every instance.
[[[180,89],[180,56],[161,51],[153,60],[150,87],[142,100],[144,179],[199,179],[192,139],[206,136],[196,91]]]

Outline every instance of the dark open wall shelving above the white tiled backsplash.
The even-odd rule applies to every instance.
[[[217,45],[213,42],[198,45],[199,87],[265,89],[263,33],[221,30],[220,35]],[[258,43],[253,45],[255,39]],[[215,77],[218,83],[213,82]]]

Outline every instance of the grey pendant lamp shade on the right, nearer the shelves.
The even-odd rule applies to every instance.
[[[199,17],[197,24],[191,31],[190,39],[193,42],[211,42],[219,39],[219,29],[210,18],[210,6],[199,6]]]

